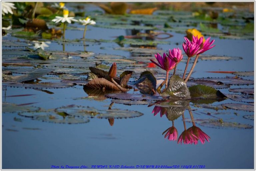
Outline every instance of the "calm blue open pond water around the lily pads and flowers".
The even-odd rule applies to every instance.
[[[82,28],[82,26],[79,26]],[[67,30],[67,39],[80,39],[83,31]],[[102,34],[104,33],[104,34]],[[159,44],[164,50],[177,47],[176,42],[183,41],[184,34],[171,33],[174,37],[166,40],[170,45]],[[114,39],[113,36],[126,35],[125,30],[103,29],[89,26],[86,37],[88,39]],[[16,40],[7,36],[3,39]],[[243,57],[242,60],[201,60],[195,68],[192,77],[225,77],[232,74],[208,73],[206,71],[253,71],[254,70],[254,41],[227,40],[214,38],[216,47],[206,52],[209,55],[227,55]],[[20,39],[22,40],[22,39]],[[123,55],[129,58],[128,51],[113,50],[119,47],[116,43],[88,43],[87,51]],[[101,48],[104,47],[104,48]],[[182,45],[178,45],[182,48]],[[66,51],[83,51],[83,46],[66,45]],[[52,42],[46,50],[62,50],[62,45]],[[154,57],[152,56],[152,59]],[[185,63],[178,65],[183,69]],[[244,77],[251,79],[253,77]],[[231,86],[231,88],[251,86]],[[7,87],[2,89],[2,102],[24,104],[37,102],[31,106],[44,109],[54,109],[66,105],[81,105],[107,110],[111,99],[95,101],[90,99],[74,100],[74,98],[88,96],[83,86],[71,88],[48,89],[54,94],[33,89]],[[220,89],[223,93],[230,93],[228,89]],[[132,92],[132,91],[131,91]],[[33,94],[24,97],[5,97],[12,95]],[[227,99],[215,102],[239,103]],[[227,109],[224,114],[216,115],[211,109],[196,108],[193,111],[195,119],[222,118],[224,121],[249,124],[254,126],[253,120],[244,119],[244,115],[253,112],[235,111]],[[254,128],[209,128],[197,124],[211,139],[210,142],[197,145],[177,144],[164,138],[162,132],[172,126],[172,122],[160,114],[154,116],[154,106],[114,104],[112,109],[128,109],[139,111],[144,115],[130,119],[115,119],[110,126],[107,119],[90,119],[86,124],[53,124],[18,116],[17,113],[2,114],[2,168],[3,169],[50,169],[56,166],[81,166],[91,168],[92,165],[205,165],[205,169],[253,169],[254,168]],[[204,114],[203,114],[204,113]],[[206,113],[211,113],[207,116]],[[238,115],[235,115],[237,113]],[[185,118],[189,118],[186,110]],[[14,118],[22,119],[17,122]],[[186,122],[187,128],[192,123]],[[182,117],[175,120],[178,135],[184,130]],[[31,130],[26,128],[38,128]],[[13,131],[15,130],[15,131]]]

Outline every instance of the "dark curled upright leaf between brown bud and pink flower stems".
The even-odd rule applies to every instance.
[[[153,95],[156,92],[156,78],[150,71],[142,72],[134,84],[141,93]]]

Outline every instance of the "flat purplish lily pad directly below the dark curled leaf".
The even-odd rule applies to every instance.
[[[145,100],[160,100],[161,96],[151,96],[151,95],[141,95],[141,94],[130,94],[130,93],[112,93],[106,94],[106,97],[111,99],[121,99],[121,100],[135,100],[135,101],[145,101]]]

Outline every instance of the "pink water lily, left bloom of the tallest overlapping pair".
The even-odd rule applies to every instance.
[[[203,43],[203,37],[200,39],[196,39],[197,37],[193,36],[193,41],[190,42],[188,38],[184,37],[185,41],[182,44],[184,52],[187,54],[188,57],[192,57],[199,51],[201,44]],[[200,43],[200,44],[199,44]]]

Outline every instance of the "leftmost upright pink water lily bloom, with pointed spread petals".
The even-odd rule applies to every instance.
[[[163,70],[170,71],[175,67],[175,61],[171,60],[165,53],[163,54],[163,57],[159,53],[155,54],[155,57],[158,63],[152,59],[150,59],[150,61]]]

